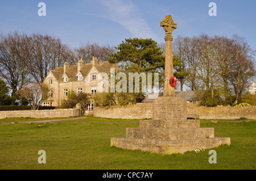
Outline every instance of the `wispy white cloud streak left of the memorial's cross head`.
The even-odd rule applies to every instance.
[[[121,24],[135,37],[153,38],[155,33],[148,26],[133,2],[122,0],[100,1],[106,7],[104,17]]]

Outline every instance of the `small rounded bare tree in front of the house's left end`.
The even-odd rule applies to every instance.
[[[48,99],[49,89],[48,86],[41,85],[38,82],[27,83],[22,89],[18,91],[21,98],[27,99],[31,110],[38,110],[39,106]]]

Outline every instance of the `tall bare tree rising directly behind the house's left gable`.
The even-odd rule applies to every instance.
[[[30,58],[28,68],[36,82],[43,82],[49,70],[63,66],[64,62],[73,62],[73,54],[69,47],[61,43],[59,38],[33,33],[28,37]]]

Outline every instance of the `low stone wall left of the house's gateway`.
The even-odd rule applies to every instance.
[[[0,111],[0,119],[5,117],[69,117],[80,116],[78,109],[57,109],[38,111]]]

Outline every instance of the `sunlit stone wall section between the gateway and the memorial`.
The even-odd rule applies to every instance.
[[[93,116],[117,119],[145,119],[152,117],[152,103],[133,104],[123,107],[94,107]]]

